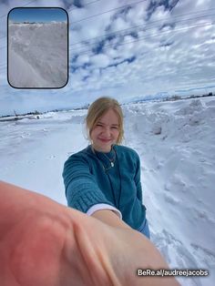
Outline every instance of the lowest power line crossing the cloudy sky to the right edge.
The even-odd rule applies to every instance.
[[[186,27],[182,27],[182,28],[179,28],[179,29],[176,29],[176,30],[172,30],[172,31],[165,31],[165,32],[160,32],[159,34],[154,34],[154,35],[148,35],[148,36],[140,36],[138,39],[136,40],[133,40],[133,41],[129,41],[129,42],[125,42],[125,43],[122,43],[122,44],[118,44],[118,46],[124,46],[124,45],[128,45],[128,44],[131,44],[131,43],[136,43],[136,42],[140,42],[142,40],[145,40],[146,38],[151,38],[151,37],[155,37],[155,36],[160,36],[160,35],[165,35],[165,34],[169,34],[171,32],[179,32],[179,31],[183,31],[183,30],[186,30],[186,29],[191,29],[191,28],[197,28],[197,27],[202,27],[202,26],[214,26],[214,24],[211,24],[211,23],[206,23],[204,25],[200,25],[200,26],[186,26]],[[112,46],[112,44],[109,44],[107,46]],[[107,47],[106,46],[106,47]],[[88,52],[91,52],[92,51],[92,48],[91,49],[88,49],[88,50],[83,50],[83,51],[80,51],[78,53],[78,56],[82,56],[82,55],[85,55],[87,54]],[[70,52],[70,51],[69,51]],[[77,52],[76,52],[77,54]]]

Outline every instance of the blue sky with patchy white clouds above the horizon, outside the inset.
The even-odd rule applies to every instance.
[[[69,80],[61,89],[15,89],[7,83],[7,13],[0,3],[0,115],[79,107],[97,97],[215,91],[213,0],[18,1],[58,6],[69,16]]]

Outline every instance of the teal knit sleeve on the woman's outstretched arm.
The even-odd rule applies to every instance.
[[[87,212],[98,203],[113,205],[98,188],[94,175],[90,173],[87,158],[78,154],[67,159],[63,170],[67,205]]]

